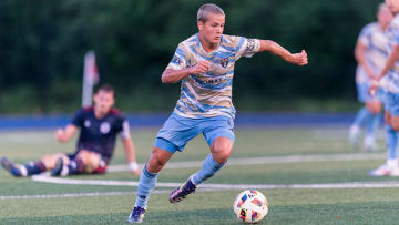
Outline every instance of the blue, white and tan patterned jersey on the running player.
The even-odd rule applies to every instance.
[[[166,69],[182,70],[206,60],[211,69],[204,74],[190,74],[181,82],[181,96],[174,113],[185,117],[227,115],[235,117],[232,102],[234,64],[241,57],[252,57],[260,49],[256,39],[222,35],[219,47],[205,52],[198,34],[181,42]]]

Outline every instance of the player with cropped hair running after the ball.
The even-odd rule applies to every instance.
[[[141,223],[158,172],[172,155],[203,133],[211,147],[202,168],[170,195],[177,203],[194,193],[198,184],[219,171],[234,143],[235,109],[232,103],[234,64],[241,57],[269,51],[284,60],[307,64],[307,54],[291,54],[276,42],[223,34],[225,14],[216,4],[203,4],[197,13],[200,32],[181,42],[162,74],[163,83],[181,82],[181,96],[160,130],[153,152],[140,177],[137,196],[129,222]]]

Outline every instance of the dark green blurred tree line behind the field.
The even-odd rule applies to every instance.
[[[102,82],[125,111],[167,111],[178,85],[160,76],[178,42],[197,32],[197,0],[1,0],[0,113],[68,113],[81,102],[83,57],[94,50]],[[262,53],[236,64],[241,111],[350,110],[356,103],[354,47],[380,1],[215,0],[225,33],[272,39],[297,68]]]

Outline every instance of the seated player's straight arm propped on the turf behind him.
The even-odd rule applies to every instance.
[[[134,147],[134,143],[132,141],[132,137],[130,135],[130,129],[129,129],[129,122],[124,121],[123,125],[122,125],[122,131],[121,131],[121,139],[122,139],[122,144],[123,144],[123,150],[126,154],[126,162],[129,165],[129,170],[135,174],[135,175],[140,175],[140,168],[139,168],[139,164],[136,162],[136,157],[135,157],[135,147]]]

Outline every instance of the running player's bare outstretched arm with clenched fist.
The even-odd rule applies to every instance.
[[[306,65],[308,63],[307,53],[303,50],[300,53],[290,53],[288,50],[270,40],[258,40],[260,42],[259,52],[268,51],[283,58],[285,61],[297,65]]]

